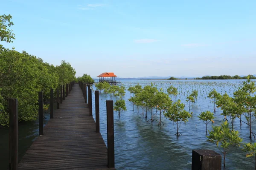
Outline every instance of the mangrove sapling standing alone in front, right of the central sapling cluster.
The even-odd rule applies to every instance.
[[[164,116],[166,116],[166,119],[169,119],[173,123],[173,127],[176,130],[177,133],[175,135],[180,136],[181,133],[179,133],[179,128],[182,122],[187,122],[188,119],[192,116],[188,111],[184,110],[185,105],[183,103],[180,103],[180,99],[177,100],[177,102],[173,103],[166,113],[164,113]],[[176,124],[176,127],[175,125]]]

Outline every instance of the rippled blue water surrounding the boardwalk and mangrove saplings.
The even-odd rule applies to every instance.
[[[178,88],[180,94],[177,99],[181,99],[186,104],[188,111],[188,103],[186,96],[192,89],[198,90],[198,99],[192,106],[192,118],[189,122],[182,124],[179,132],[181,136],[175,136],[173,124],[168,119],[162,117],[164,125],[157,126],[158,121],[147,122],[141,115],[142,109],[137,113],[137,107],[132,111],[132,104],[128,101],[130,98],[129,92],[125,95],[127,111],[121,113],[121,118],[114,112],[114,135],[115,135],[115,161],[116,168],[119,170],[189,170],[191,169],[192,149],[212,149],[220,153],[215,144],[207,142],[205,134],[205,124],[198,119],[201,111],[213,111],[213,103],[207,98],[207,93],[212,88],[215,88],[220,93],[227,92],[232,96],[239,86],[241,80],[175,80],[175,81],[123,81],[123,85],[127,88],[131,85],[140,83],[141,85],[149,85],[153,82],[158,88],[163,91],[169,87],[170,82]],[[96,90],[93,87],[93,90]],[[106,136],[106,100],[111,99],[110,95],[100,94],[100,130],[102,137],[107,141]],[[115,98],[113,97],[115,101]],[[175,99],[174,99],[175,100]],[[94,107],[94,95],[93,95]],[[159,120],[159,113],[154,112],[154,118]],[[93,111],[93,117],[95,118]],[[223,116],[220,115],[221,110],[215,113],[215,123],[213,125],[220,125]],[[148,117],[150,117],[148,112]],[[49,116],[47,117],[47,120]],[[45,122],[47,122],[45,120]],[[239,130],[241,138],[244,142],[250,142],[247,134],[248,127],[243,124],[240,127],[239,119],[235,121],[235,130]],[[208,129],[211,129],[211,123],[208,124]],[[253,125],[255,129],[255,125]],[[19,150],[22,156],[26,149],[32,144],[33,140],[38,135],[38,122],[30,122],[19,125]],[[0,130],[0,166],[7,168],[8,164],[8,130]],[[253,140],[253,142],[255,142]],[[245,158],[246,153],[241,151],[239,147],[234,147],[229,151],[226,158],[226,170],[253,170],[254,163],[250,158]],[[2,169],[2,168],[0,168]]]

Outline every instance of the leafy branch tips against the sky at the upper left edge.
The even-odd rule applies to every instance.
[[[13,42],[15,40],[15,34],[12,33],[12,30],[9,27],[13,26],[14,24],[11,21],[12,16],[9,15],[0,15],[0,41],[5,42]],[[0,51],[4,49],[2,45],[0,45]]]

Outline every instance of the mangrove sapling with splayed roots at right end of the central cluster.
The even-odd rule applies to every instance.
[[[164,114],[166,110],[172,105],[172,100],[163,91],[158,91],[157,94],[155,95],[155,99],[157,101],[157,110],[160,111],[160,120],[158,125],[161,126],[161,123],[163,123],[161,121],[162,113]]]

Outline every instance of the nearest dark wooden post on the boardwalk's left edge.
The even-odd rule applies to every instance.
[[[18,100],[9,99],[9,170],[18,169]]]

